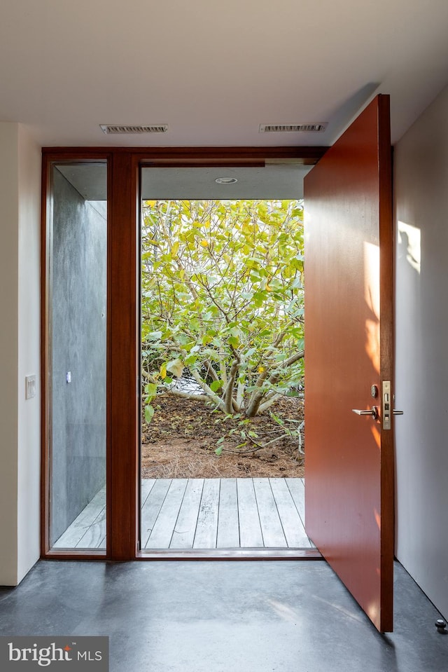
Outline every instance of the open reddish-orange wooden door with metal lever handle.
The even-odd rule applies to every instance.
[[[307,533],[377,629],[391,631],[388,96],[375,98],[309,172],[304,203]],[[372,406],[377,419],[352,411]]]

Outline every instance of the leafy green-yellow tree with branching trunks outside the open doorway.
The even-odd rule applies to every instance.
[[[252,418],[303,376],[297,201],[145,201],[141,339],[146,420],[188,369],[228,415]]]

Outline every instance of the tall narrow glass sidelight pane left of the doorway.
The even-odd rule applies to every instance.
[[[106,549],[106,162],[53,164],[50,196],[50,548]]]

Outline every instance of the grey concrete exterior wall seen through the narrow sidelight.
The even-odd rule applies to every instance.
[[[56,169],[52,221],[54,543],[106,480],[106,210]]]

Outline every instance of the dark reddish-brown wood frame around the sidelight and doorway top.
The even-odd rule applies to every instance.
[[[41,208],[41,557],[126,561],[139,556],[139,167],[314,165],[328,147],[44,147]],[[107,161],[106,551],[50,549],[48,223],[53,164]],[[125,263],[123,263],[125,261]],[[125,316],[125,317],[123,317]],[[127,356],[123,357],[123,352]],[[123,449],[125,447],[125,449]],[[149,558],[148,558],[149,559]]]

